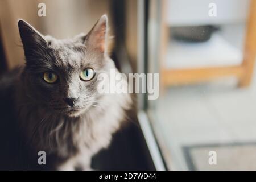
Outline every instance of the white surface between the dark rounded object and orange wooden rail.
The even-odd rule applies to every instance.
[[[166,68],[240,65],[242,50],[214,33],[207,42],[180,42],[172,39],[167,48]]]

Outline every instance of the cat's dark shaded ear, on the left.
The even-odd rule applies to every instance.
[[[47,46],[47,41],[43,38],[43,35],[24,20],[19,20],[18,27],[24,51]]]

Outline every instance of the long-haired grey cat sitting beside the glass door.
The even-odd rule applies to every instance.
[[[131,105],[129,94],[97,92],[100,73],[118,72],[107,53],[108,17],[72,39],[44,36],[24,20],[18,28],[26,65],[0,81],[0,169],[90,170]]]

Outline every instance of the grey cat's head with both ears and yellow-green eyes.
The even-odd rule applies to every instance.
[[[98,102],[97,75],[114,65],[106,53],[106,15],[87,35],[73,39],[43,36],[23,20],[19,20],[18,27],[26,57],[22,76],[28,97],[49,110],[70,116]]]

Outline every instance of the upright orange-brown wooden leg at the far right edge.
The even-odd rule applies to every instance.
[[[256,0],[251,0],[247,32],[243,51],[243,76],[239,86],[249,86],[253,77],[256,56]]]

